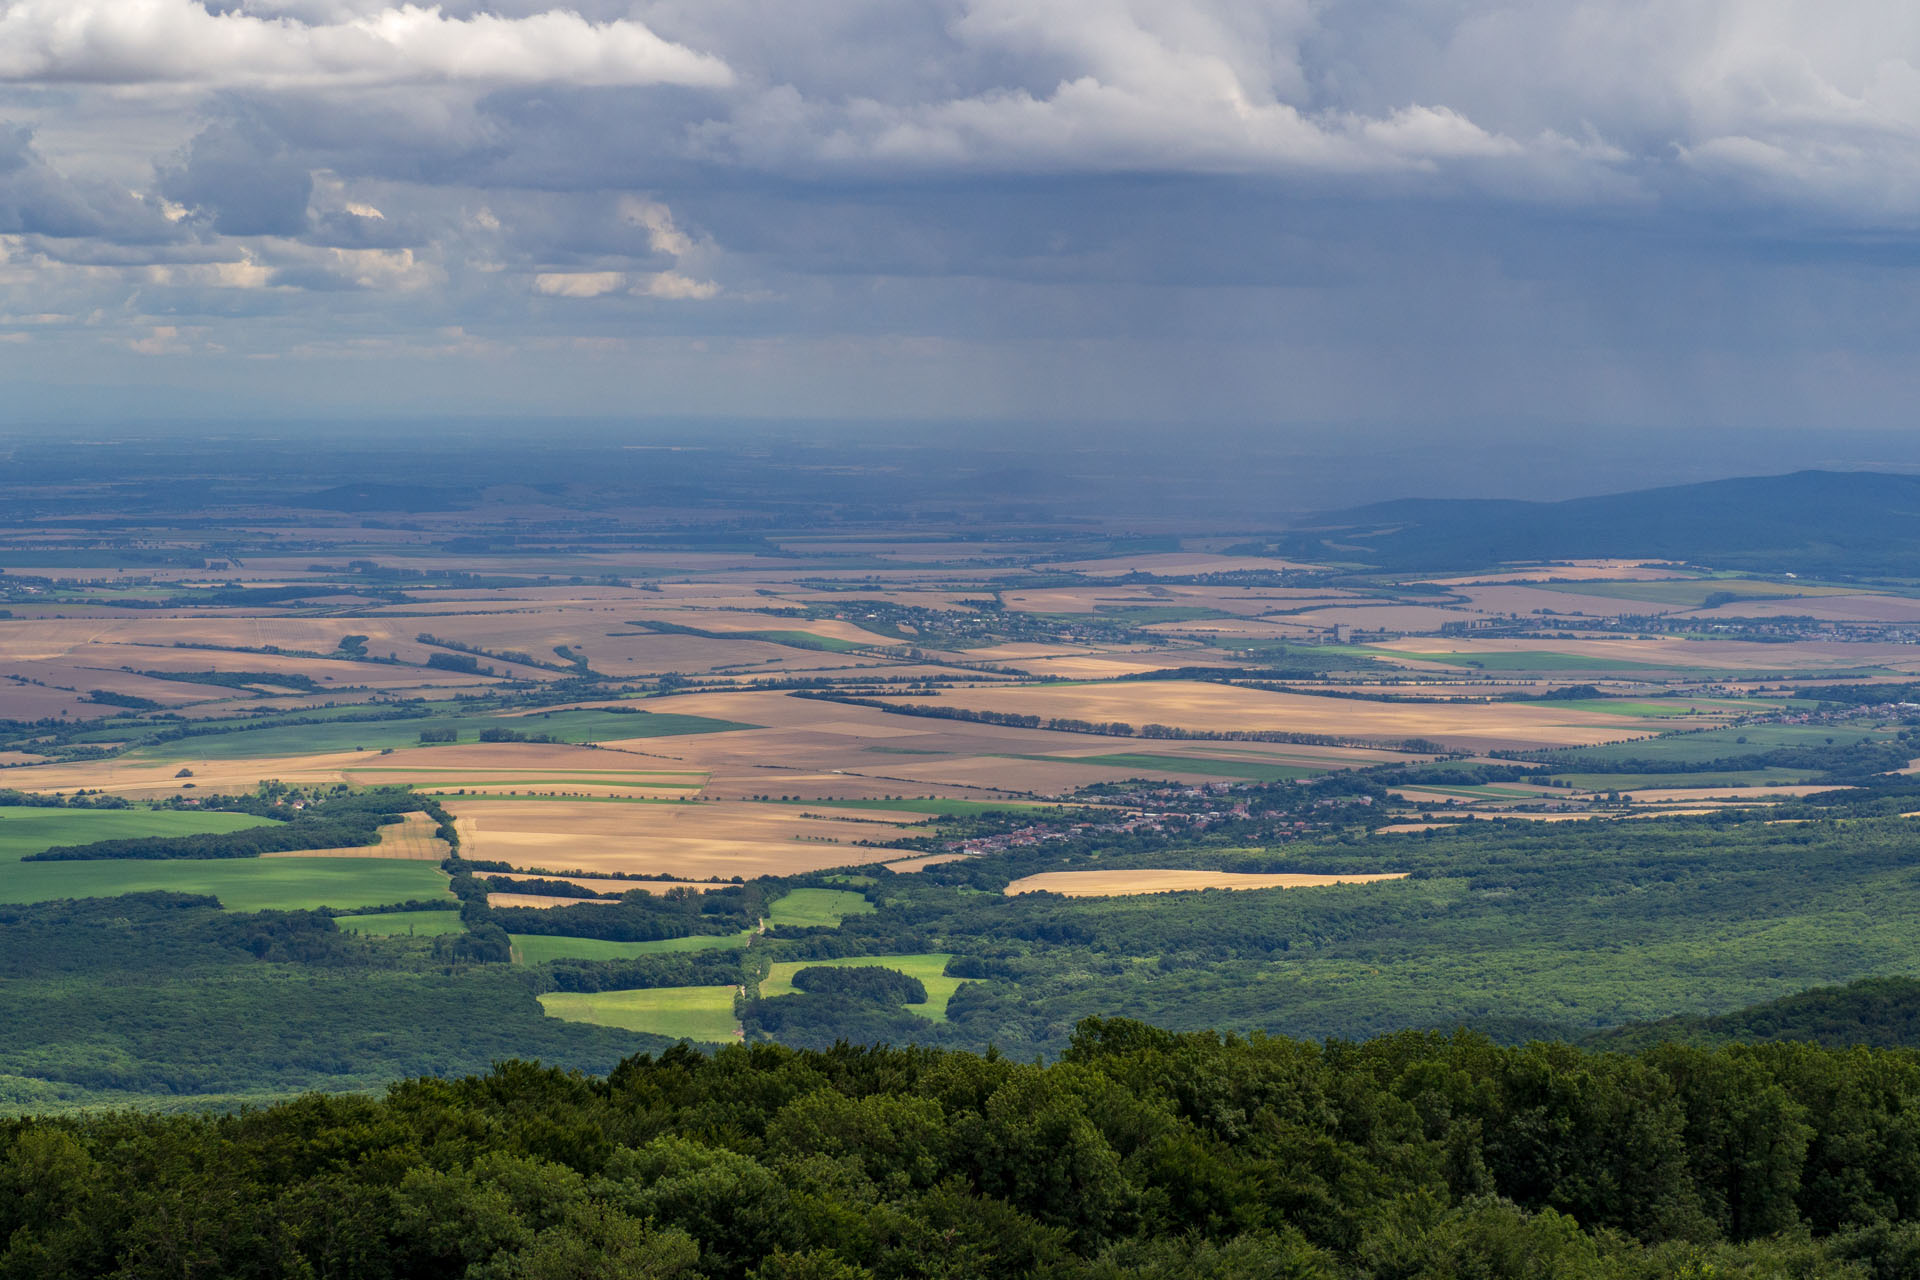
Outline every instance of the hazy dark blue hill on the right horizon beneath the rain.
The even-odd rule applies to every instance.
[[[1394,570],[1649,557],[1874,574],[1920,553],[1920,476],[1805,470],[1561,503],[1407,499],[1315,516],[1283,549]]]

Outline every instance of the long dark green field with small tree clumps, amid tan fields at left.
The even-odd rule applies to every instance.
[[[676,737],[682,733],[724,733],[753,729],[732,720],[676,716],[670,712],[572,710],[536,716],[417,716],[407,720],[348,720],[313,725],[275,723],[257,729],[182,737],[129,752],[136,760],[246,760],[252,756],[300,756],[328,750],[378,750],[417,747],[420,729],[453,729],[463,743],[474,743],[480,729],[549,733],[563,743],[611,743],[630,737]]]

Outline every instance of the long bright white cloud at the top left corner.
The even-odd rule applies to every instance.
[[[12,0],[0,8],[0,81],[196,86],[689,84],[732,69],[634,19],[568,10],[449,17],[438,6],[338,21],[209,12],[194,0]]]

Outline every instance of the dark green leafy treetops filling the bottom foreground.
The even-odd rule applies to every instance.
[[[0,1276],[1628,1280],[1920,1267],[1920,1057],[1089,1021],[0,1123]]]

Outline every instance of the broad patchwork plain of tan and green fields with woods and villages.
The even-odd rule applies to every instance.
[[[605,1069],[682,1036],[1031,1059],[1096,1013],[1576,1036],[1920,971],[1920,583],[1369,562],[1390,533],[1306,555],[912,497],[505,486],[275,524],[273,484],[154,516],[134,541],[169,562],[140,570],[79,491],[0,530],[0,927],[69,940],[96,977],[46,998],[132,1063],[50,1029],[0,1067],[27,1094],[374,1088],[474,1046]],[[330,796],[399,819],[219,844]],[[265,1048],[100,1029],[75,1002],[127,1015],[109,967],[161,963],[150,936],[182,1007]],[[365,1029],[338,1061],[315,1009]]]

